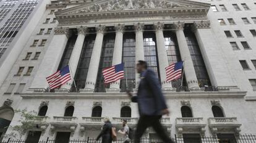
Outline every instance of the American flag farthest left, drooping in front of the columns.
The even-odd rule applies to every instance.
[[[53,75],[48,76],[46,80],[50,89],[60,88],[63,84],[67,83],[67,81],[71,80],[69,65],[56,71]]]

